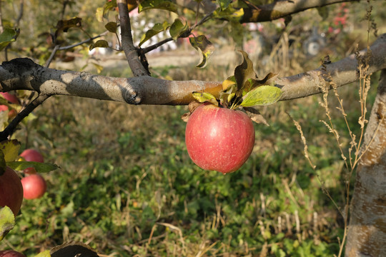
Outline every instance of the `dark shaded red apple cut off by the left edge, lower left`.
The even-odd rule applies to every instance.
[[[16,216],[23,202],[23,186],[16,172],[6,167],[0,176],[0,206],[8,206]]]

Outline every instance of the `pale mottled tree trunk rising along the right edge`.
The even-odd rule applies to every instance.
[[[347,257],[386,256],[386,69],[362,146],[351,203]]]

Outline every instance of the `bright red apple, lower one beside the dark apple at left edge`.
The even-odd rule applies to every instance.
[[[21,183],[23,184],[24,198],[26,199],[41,198],[46,193],[46,181],[39,173],[21,178]]]

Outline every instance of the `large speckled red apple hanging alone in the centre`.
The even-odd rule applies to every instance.
[[[189,117],[185,143],[197,166],[230,173],[237,171],[252,153],[254,126],[242,111],[204,103]]]

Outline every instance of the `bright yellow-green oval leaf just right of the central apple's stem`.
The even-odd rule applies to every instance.
[[[249,93],[243,97],[240,106],[267,106],[279,101],[280,96],[282,96],[282,90],[276,86],[259,86],[249,91]]]

